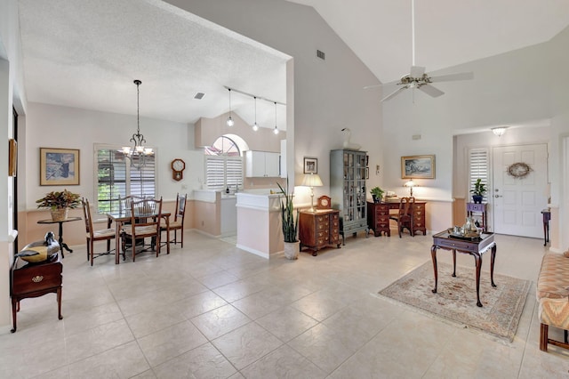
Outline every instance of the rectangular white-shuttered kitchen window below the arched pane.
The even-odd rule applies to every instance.
[[[243,188],[243,157],[205,156],[208,189]]]

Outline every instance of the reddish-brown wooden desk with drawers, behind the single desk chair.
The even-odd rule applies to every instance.
[[[426,201],[415,201],[413,207],[413,233],[421,231],[423,236],[427,234],[427,226],[425,224],[425,206]],[[384,233],[391,237],[389,229],[389,210],[399,209],[399,202],[386,201],[382,203],[367,202],[367,226],[373,230],[375,237]]]

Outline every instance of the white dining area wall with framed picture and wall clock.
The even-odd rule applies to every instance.
[[[135,104],[134,104],[135,105]],[[133,105],[133,106],[134,106]],[[30,102],[26,117],[26,159],[28,192],[27,209],[36,208],[36,199],[46,192],[64,187],[39,185],[39,148],[80,149],[80,184],[69,190],[89,199],[95,198],[94,144],[128,146],[136,133],[136,116],[119,115],[93,110],[59,107]],[[140,117],[140,133],[148,147],[156,148],[156,194],[173,200],[176,193],[198,189],[198,178],[204,173],[204,150],[193,149],[193,125]],[[170,163],[175,157],[186,162],[184,179],[172,180]],[[187,186],[184,189],[182,186]]]

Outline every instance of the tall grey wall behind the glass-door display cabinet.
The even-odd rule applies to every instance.
[[[303,157],[317,157],[324,187],[315,197],[330,194],[330,150],[341,149],[349,127],[351,141],[362,145],[370,165],[383,166],[381,91],[365,91],[378,80],[357,59],[320,15],[312,8],[283,0],[168,0],[167,3],[195,13],[225,28],[267,44],[293,57],[294,179],[302,180]],[[317,58],[317,49],[326,59]],[[290,140],[289,140],[290,141]],[[291,172],[291,168],[289,168]],[[289,174],[291,180],[293,175]],[[372,170],[368,186],[381,185],[382,174]],[[309,202],[309,190],[297,188],[299,202]]]

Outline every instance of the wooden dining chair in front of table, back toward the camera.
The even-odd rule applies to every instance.
[[[162,198],[144,198],[131,201],[131,224],[124,225],[123,238],[131,241],[151,238],[150,247],[156,250],[156,257],[160,254],[160,220],[162,219]],[[123,242],[124,244],[125,242]],[[136,260],[138,244],[132,244],[132,262]],[[146,250],[142,244],[139,253]],[[126,250],[123,246],[123,250]]]

